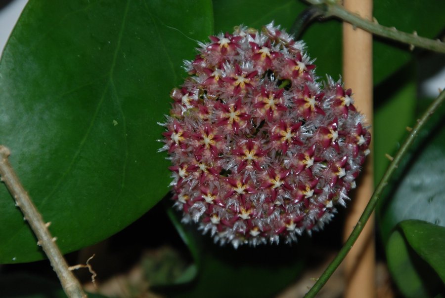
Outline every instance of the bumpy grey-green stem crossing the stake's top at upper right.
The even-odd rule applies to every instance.
[[[441,40],[420,37],[416,32],[409,34],[398,31],[394,27],[385,27],[378,24],[375,19],[372,22],[368,21],[346,10],[342,5],[337,4],[335,0],[305,1],[313,5],[322,6],[321,10],[324,12],[323,15],[325,17],[335,16],[374,35],[407,43],[409,44],[410,50],[413,50],[414,47],[419,47],[439,53],[445,53],[445,42],[442,42]]]

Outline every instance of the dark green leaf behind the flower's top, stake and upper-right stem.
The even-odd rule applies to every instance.
[[[291,28],[298,14],[306,7],[296,0],[214,0],[215,31],[232,31],[244,24],[261,29],[272,20],[284,28]],[[374,16],[389,27],[401,31],[417,31],[420,36],[435,38],[444,28],[445,1],[375,0]],[[309,54],[316,58],[317,74],[329,74],[335,79],[341,74],[341,23],[335,20],[315,22],[303,34]],[[378,84],[398,70],[412,57],[408,46],[390,44],[374,38],[374,83]],[[394,46],[395,45],[395,46]]]

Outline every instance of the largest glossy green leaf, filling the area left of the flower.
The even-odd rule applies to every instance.
[[[209,0],[30,0],[0,61],[0,140],[63,252],[132,223],[168,191],[162,145]],[[0,262],[43,258],[5,187]]]

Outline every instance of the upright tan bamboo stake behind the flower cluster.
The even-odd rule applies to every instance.
[[[372,0],[344,0],[347,10],[372,19]],[[372,35],[343,23],[343,77],[347,88],[352,88],[356,107],[372,124]],[[372,149],[371,149],[372,152]],[[348,206],[345,240],[351,234],[374,189],[372,153],[368,155],[357,183],[355,198]],[[356,244],[345,259],[345,298],[374,298],[375,243],[374,219],[370,218]]]

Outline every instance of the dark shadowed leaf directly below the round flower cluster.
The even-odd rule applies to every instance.
[[[178,215],[169,217],[190,248],[197,275],[187,275],[187,284],[158,289],[166,297],[274,297],[294,281],[303,269],[308,236],[291,246],[241,246],[234,249],[213,243],[196,225],[182,225]],[[222,286],[225,285],[225,286]]]

